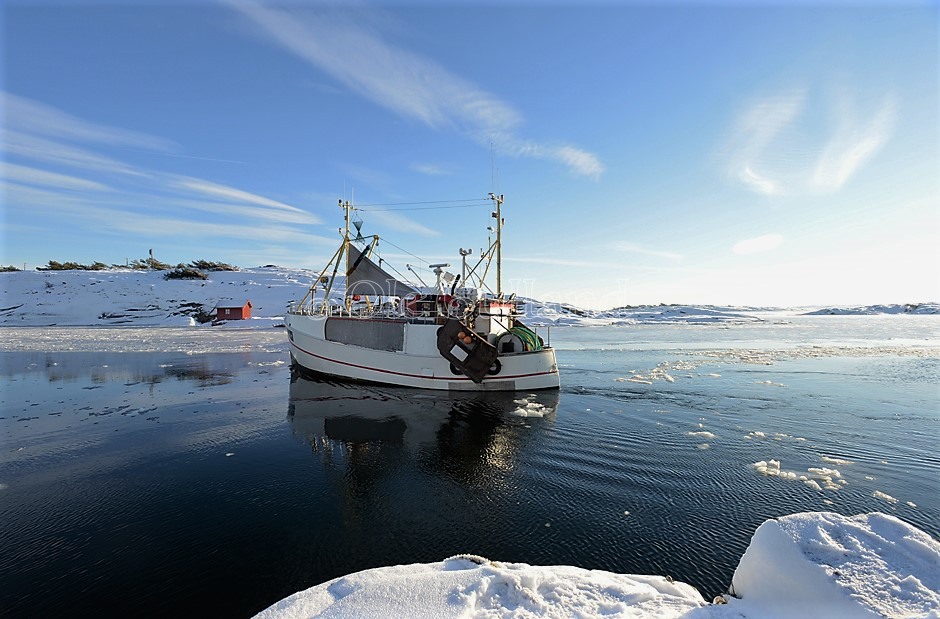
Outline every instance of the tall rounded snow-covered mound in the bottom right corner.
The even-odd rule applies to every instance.
[[[732,579],[747,617],[940,617],[940,543],[894,516],[768,520]]]

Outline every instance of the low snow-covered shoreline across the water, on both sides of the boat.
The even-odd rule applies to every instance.
[[[306,269],[275,266],[210,271],[206,280],[166,279],[165,275],[133,269],[0,273],[0,325],[181,326],[206,320],[220,304],[251,301],[252,319],[239,326],[275,326],[317,276]],[[342,294],[342,289],[334,294]],[[780,314],[940,314],[940,303],[787,310],[651,305],[599,311],[535,299],[519,301],[528,322],[537,326],[749,322]]]

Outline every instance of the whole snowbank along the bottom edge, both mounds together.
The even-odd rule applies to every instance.
[[[308,617],[940,618],[940,543],[882,513],[762,524],[727,604],[690,585],[472,555],[366,570],[287,597],[260,619]]]

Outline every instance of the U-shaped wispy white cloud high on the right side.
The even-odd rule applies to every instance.
[[[890,93],[866,114],[848,89],[828,97],[795,89],[761,98],[725,139],[728,177],[769,196],[837,191],[890,140],[896,116]]]

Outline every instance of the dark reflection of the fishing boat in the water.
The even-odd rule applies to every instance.
[[[431,392],[291,376],[288,418],[324,464],[385,478],[417,468],[489,485],[554,424],[557,391]]]

